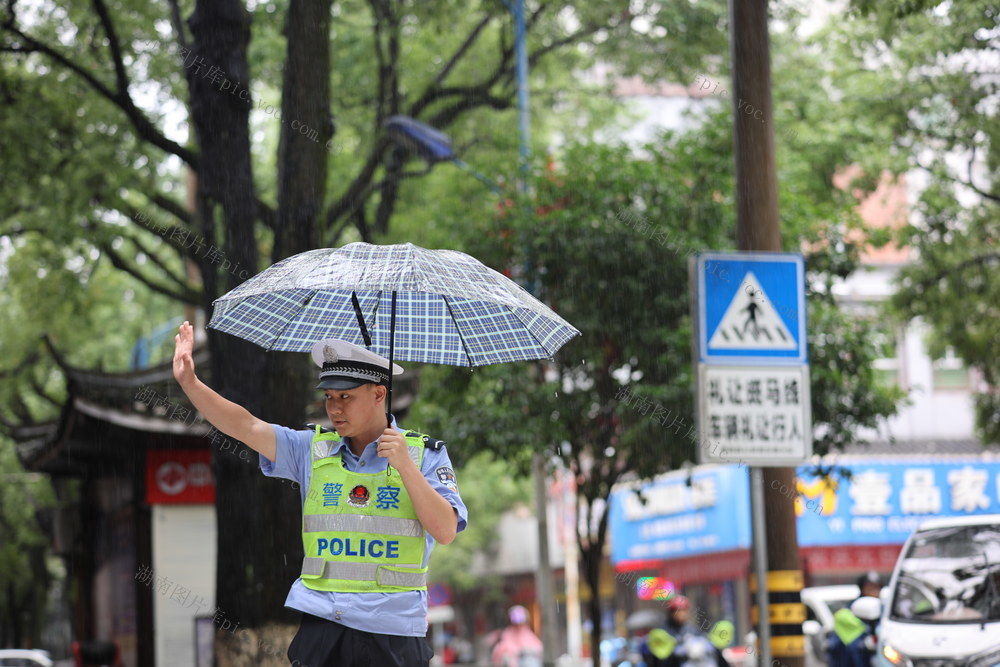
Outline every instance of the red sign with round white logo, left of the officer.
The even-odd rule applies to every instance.
[[[205,449],[146,452],[146,502],[150,505],[214,503],[212,452]]]

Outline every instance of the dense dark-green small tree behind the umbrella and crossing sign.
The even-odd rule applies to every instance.
[[[507,209],[491,226],[470,230],[468,244],[584,335],[550,363],[425,371],[435,407],[424,420],[449,438],[523,470],[543,451],[576,475],[586,527],[578,534],[581,572],[593,591],[612,486],[676,469],[708,446],[694,430],[688,261],[701,250],[734,247],[729,124],[728,113],[713,114],[638,155],[624,146],[568,146],[557,167],[536,178],[530,210]],[[802,189],[782,187],[795,232],[785,243],[816,248],[807,260],[817,285],[809,295],[809,345],[814,447],[826,453],[857,442],[861,427],[892,414],[900,394],[874,380],[871,325],[842,312],[829,290],[856,268],[858,249],[831,231],[835,225],[795,213],[823,210],[839,220],[853,202],[833,193],[801,202]],[[599,597],[589,605],[599,628]],[[591,638],[595,650],[599,640]]]

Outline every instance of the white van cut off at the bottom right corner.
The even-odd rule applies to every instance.
[[[879,665],[1000,666],[1000,514],[921,524],[882,603]]]

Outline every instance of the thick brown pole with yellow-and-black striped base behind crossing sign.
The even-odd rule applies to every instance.
[[[736,245],[742,252],[782,250],[767,9],[767,0],[729,0]],[[770,665],[773,655],[787,667],[803,667],[805,611],[800,598],[802,570],[795,505],[784,494],[767,491],[782,485],[794,489],[795,469],[753,468],[751,475],[755,476],[751,487],[757,489],[757,501],[763,496],[767,527],[767,586],[762,588],[768,592],[766,600],[769,603],[765,601],[761,605],[758,636],[764,660],[758,660],[757,664]],[[755,532],[754,539],[760,537]]]

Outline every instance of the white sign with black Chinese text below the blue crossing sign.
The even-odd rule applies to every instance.
[[[808,366],[699,364],[702,463],[785,466],[812,456]]]

